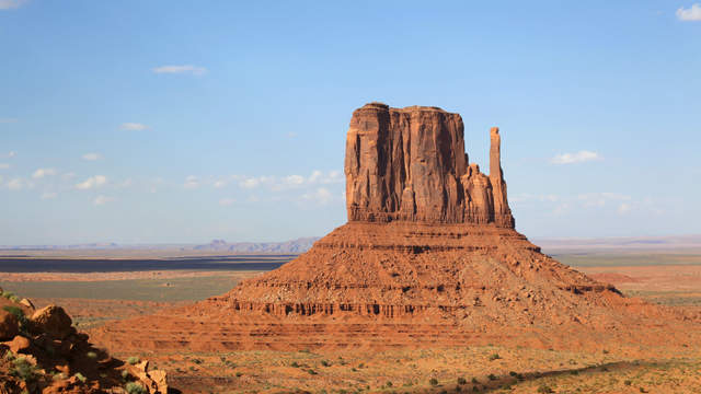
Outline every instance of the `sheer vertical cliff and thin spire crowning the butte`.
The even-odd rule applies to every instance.
[[[458,114],[437,107],[356,109],[346,140],[348,221],[495,223],[514,228],[497,128],[490,176],[468,165]]]

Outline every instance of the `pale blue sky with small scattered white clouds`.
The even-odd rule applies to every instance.
[[[371,101],[499,126],[528,236],[701,233],[701,4],[0,0],[0,244],[345,222]]]

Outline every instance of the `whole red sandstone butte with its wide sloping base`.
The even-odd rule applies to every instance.
[[[346,143],[346,224],[227,294],[115,323],[93,338],[120,349],[211,351],[576,347],[679,332],[651,332],[678,321],[518,233],[498,129],[491,130],[489,175],[469,164],[463,134],[460,115],[436,107],[356,109]]]

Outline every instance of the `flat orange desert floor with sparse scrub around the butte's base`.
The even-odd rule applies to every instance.
[[[701,311],[701,251],[562,252],[555,258],[627,296]],[[0,287],[56,303],[88,331],[228,291],[257,271],[0,273]],[[698,344],[559,350],[480,347],[120,354],[152,360],[182,392],[701,393]]]

